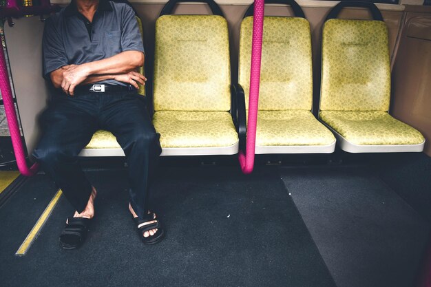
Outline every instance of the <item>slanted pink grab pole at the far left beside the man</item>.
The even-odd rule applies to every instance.
[[[8,120],[10,137],[12,138],[12,146],[14,147],[14,153],[15,158],[17,159],[18,169],[24,176],[33,176],[34,173],[37,172],[39,164],[35,163],[29,169],[27,166],[27,162],[25,161],[24,147],[21,140],[21,133],[19,131],[14,100],[12,98],[12,89],[10,88],[8,68],[6,67],[6,59],[3,47],[0,47],[0,89],[1,96],[3,96],[6,119]]]

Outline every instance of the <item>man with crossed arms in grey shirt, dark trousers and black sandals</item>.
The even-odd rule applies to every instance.
[[[76,210],[59,242],[76,248],[94,216],[96,189],[85,178],[78,153],[98,129],[111,131],[127,157],[129,210],[146,244],[164,235],[148,209],[148,189],[161,148],[145,98],[144,49],[132,7],[109,0],[72,0],[45,23],[44,76],[56,92],[41,116],[34,158]]]

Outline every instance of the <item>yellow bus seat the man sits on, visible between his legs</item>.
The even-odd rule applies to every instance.
[[[139,17],[136,17],[136,21],[138,21],[138,27],[140,30],[140,34],[143,35],[143,25],[142,21],[140,21]],[[144,74],[144,67],[140,67],[140,74]],[[145,86],[140,85],[138,93],[142,96],[145,96]],[[88,143],[87,147],[85,147],[80,156],[125,156],[123,149],[121,149],[120,145],[113,134],[109,131],[99,130],[96,131],[92,137],[92,140]]]

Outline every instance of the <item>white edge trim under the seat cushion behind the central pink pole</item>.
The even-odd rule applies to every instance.
[[[266,153],[333,153],[336,140],[330,145],[256,145],[256,154]]]

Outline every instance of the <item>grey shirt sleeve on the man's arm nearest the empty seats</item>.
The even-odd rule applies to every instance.
[[[121,27],[121,49],[124,51],[144,52],[142,34],[134,10],[125,5]]]

